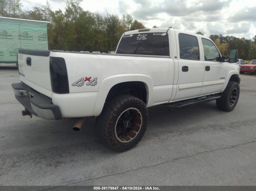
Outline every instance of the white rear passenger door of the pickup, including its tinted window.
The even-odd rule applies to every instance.
[[[179,75],[174,100],[199,96],[204,78],[204,62],[200,55],[199,37],[176,31]]]

